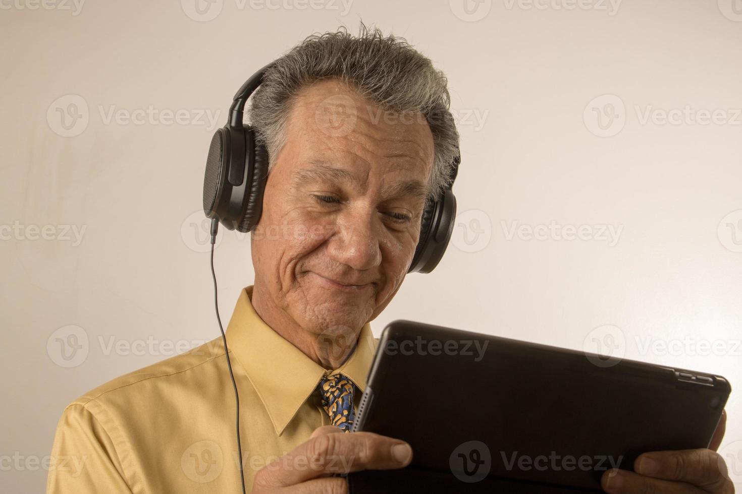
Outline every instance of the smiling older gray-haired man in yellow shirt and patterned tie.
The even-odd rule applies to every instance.
[[[403,441],[344,432],[375,350],[369,322],[401,286],[458,133],[444,76],[378,31],[312,36],[270,70],[250,112],[270,156],[255,284],[226,332],[243,467],[253,493],[342,493],[330,474],[412,459]],[[47,493],[237,492],[232,413],[220,338],[116,378],[65,410]],[[657,454],[647,473],[660,480],[629,474],[607,487],[731,492],[709,458]]]

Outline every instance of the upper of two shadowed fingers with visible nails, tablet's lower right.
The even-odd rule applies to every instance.
[[[708,449],[644,453],[634,461],[634,470],[648,477],[687,482],[709,493],[728,489],[726,464],[718,453]]]

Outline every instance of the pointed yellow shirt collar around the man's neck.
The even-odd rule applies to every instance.
[[[229,351],[237,357],[270,415],[278,435],[324,375],[342,373],[361,390],[375,353],[376,341],[364,324],[352,355],[341,367],[326,370],[266,324],[252,307],[254,285],[243,288],[227,326]]]

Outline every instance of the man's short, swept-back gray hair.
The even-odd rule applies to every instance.
[[[286,143],[293,97],[320,79],[337,78],[385,111],[421,113],[433,133],[435,156],[428,198],[437,200],[450,185],[459,154],[459,133],[449,111],[447,79],[403,38],[384,37],[362,22],[358,36],[344,27],[314,34],[266,71],[252,96],[250,123],[269,154],[269,170]]]

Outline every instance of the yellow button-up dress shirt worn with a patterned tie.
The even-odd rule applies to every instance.
[[[365,389],[376,345],[365,324],[347,361],[325,370],[260,319],[251,300],[252,285],[226,330],[248,492],[258,470],[329,424],[315,392],[324,375],[343,373]],[[47,493],[241,492],[234,412],[221,336],[122,375],[65,409]]]

